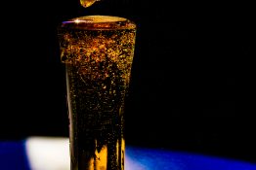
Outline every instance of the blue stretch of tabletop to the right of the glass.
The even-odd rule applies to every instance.
[[[195,153],[127,147],[126,154],[136,170],[256,170],[249,162]]]

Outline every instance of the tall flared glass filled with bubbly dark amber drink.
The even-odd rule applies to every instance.
[[[136,24],[124,17],[85,16],[58,28],[65,64],[71,170],[123,170],[124,100]]]

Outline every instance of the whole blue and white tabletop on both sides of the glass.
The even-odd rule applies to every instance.
[[[0,141],[1,170],[69,170],[68,139]],[[256,170],[256,163],[198,153],[126,146],[125,170]]]

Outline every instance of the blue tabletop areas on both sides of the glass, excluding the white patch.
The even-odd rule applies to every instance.
[[[256,170],[256,164],[160,149],[126,147],[127,170]],[[29,170],[24,141],[0,142],[0,170]]]

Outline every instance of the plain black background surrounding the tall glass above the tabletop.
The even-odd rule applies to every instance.
[[[157,4],[158,3],[158,4]],[[137,23],[126,142],[256,162],[255,119],[238,98],[253,53],[252,4],[78,0],[4,4],[0,137],[68,136],[57,27],[85,15]]]

